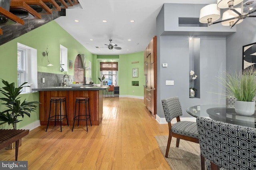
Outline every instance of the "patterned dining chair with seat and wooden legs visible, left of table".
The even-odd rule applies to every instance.
[[[199,143],[199,135],[196,126],[196,122],[192,121],[180,121],[182,115],[182,109],[180,106],[180,100],[178,97],[172,97],[162,100],[162,106],[164,109],[164,116],[168,122],[169,137],[166,147],[165,157],[168,158],[170,144],[172,137],[176,137],[176,147],[179,147],[180,139]],[[172,119],[176,117],[177,123],[171,124]]]

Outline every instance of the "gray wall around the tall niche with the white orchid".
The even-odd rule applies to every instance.
[[[187,14],[192,14],[190,15],[191,17],[199,17],[200,10],[194,10],[194,6],[193,8],[186,8],[186,10],[182,10],[181,7],[180,4],[164,4],[156,19],[156,35],[158,39],[157,115],[160,118],[164,118],[161,100],[171,96],[178,96],[180,98],[183,111],[182,117],[192,117],[186,113],[186,108],[191,105],[225,104],[224,96],[217,94],[224,93],[224,87],[217,81],[216,76],[219,76],[226,70],[226,36],[221,35],[220,26],[214,26],[218,30],[218,33],[214,36],[212,33],[210,34],[211,36],[205,36],[207,31],[203,31],[204,33],[200,35],[200,31],[198,33],[198,30],[194,27],[191,28],[189,33],[186,32],[189,28],[186,28],[185,32],[182,33],[170,30],[176,28],[170,23],[166,27],[166,22],[169,22],[168,18],[175,18],[175,15],[180,14],[173,13],[173,8],[180,8],[180,11],[183,12],[187,10]],[[195,14],[195,11],[197,14]],[[177,23],[174,22],[173,24]],[[166,30],[167,28],[168,30]],[[196,32],[193,32],[195,29]],[[224,29],[226,30],[226,28]],[[191,52],[189,37],[193,33],[197,35],[196,38],[198,38],[200,43],[193,45],[193,52]],[[228,34],[232,33],[229,32]],[[193,56],[194,54],[196,56]],[[162,63],[167,63],[168,67],[162,67]],[[190,70],[195,70],[196,74],[200,76],[195,81],[195,84],[200,87],[198,98],[189,98]],[[166,80],[174,80],[174,86],[166,86]]]

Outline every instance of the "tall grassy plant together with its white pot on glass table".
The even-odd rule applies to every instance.
[[[219,77],[221,84],[226,88],[226,96],[234,96],[235,111],[242,115],[252,115],[255,111],[256,96],[256,69],[240,71],[239,73],[228,73]]]

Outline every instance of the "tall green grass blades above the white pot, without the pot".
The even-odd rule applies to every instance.
[[[225,72],[225,76],[218,77],[225,86],[226,96],[235,96],[238,101],[251,102],[256,96],[256,69],[240,71],[239,73]]]

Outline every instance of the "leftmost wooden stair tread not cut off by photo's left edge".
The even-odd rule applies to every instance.
[[[41,15],[33,10],[28,4],[22,1],[11,1],[10,3],[10,9],[22,9],[26,10],[28,13],[30,13],[34,18],[28,18],[28,19],[41,19]],[[26,19],[26,18],[25,18]]]

